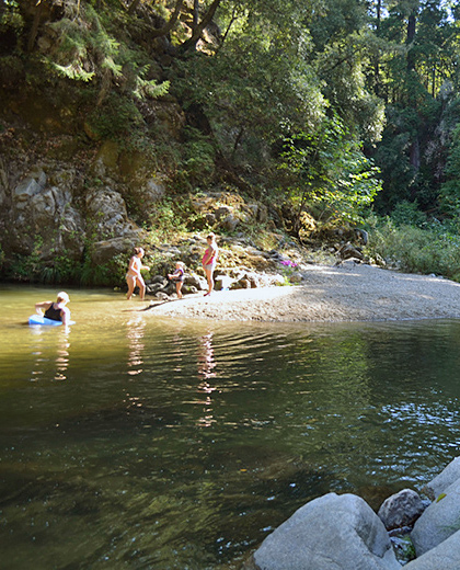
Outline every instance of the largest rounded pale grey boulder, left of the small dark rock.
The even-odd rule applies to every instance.
[[[329,493],[300,508],[267,536],[246,568],[396,570],[384,526],[357,495]]]

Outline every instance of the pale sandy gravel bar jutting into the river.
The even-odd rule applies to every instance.
[[[460,284],[366,264],[311,265],[301,285],[187,295],[148,314],[267,322],[460,318]]]

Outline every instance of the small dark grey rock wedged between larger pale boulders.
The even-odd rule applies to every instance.
[[[383,501],[378,515],[387,531],[392,531],[412,526],[424,510],[425,505],[419,494],[412,489],[403,489]]]

